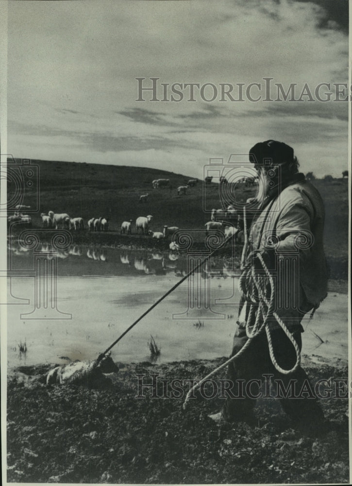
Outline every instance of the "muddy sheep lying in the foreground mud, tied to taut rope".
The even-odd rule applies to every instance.
[[[89,388],[101,388],[101,385],[111,384],[111,380],[103,373],[117,373],[118,366],[110,357],[111,351],[101,360],[84,362],[75,361],[56,366],[47,375],[47,386],[62,384],[86,385]]]

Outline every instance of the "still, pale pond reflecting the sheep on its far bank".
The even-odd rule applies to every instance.
[[[180,282],[192,264],[172,252],[79,246],[55,254],[51,250],[46,244],[35,252],[23,251],[18,244],[8,247],[9,366],[94,359]],[[161,349],[158,362],[228,355],[238,310],[237,284],[231,259],[211,260],[123,337],[112,349],[113,359],[149,360],[151,336]],[[347,296],[334,294],[327,301],[314,320],[303,321],[303,327],[309,325],[303,352],[347,359]],[[24,343],[27,350],[20,352]]]

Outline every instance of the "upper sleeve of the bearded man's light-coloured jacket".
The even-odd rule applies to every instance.
[[[277,253],[299,251],[303,260],[308,257],[314,242],[313,218],[314,208],[309,199],[301,193],[291,194],[290,200],[283,204],[276,224]]]

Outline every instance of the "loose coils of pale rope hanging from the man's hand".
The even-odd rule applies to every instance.
[[[241,277],[239,278],[238,282],[238,287],[241,292],[241,296],[245,298],[247,305],[250,305],[250,310],[248,313],[247,321],[246,321],[246,334],[248,337],[248,340],[244,344],[243,347],[238,351],[238,353],[235,354],[235,356],[232,356],[229,358],[225,363],[221,364],[218,366],[216,369],[214,369],[211,373],[209,373],[207,376],[205,376],[200,382],[196,383],[187,393],[186,398],[184,400],[183,404],[183,409],[185,410],[186,405],[188,403],[188,400],[190,399],[190,396],[192,392],[194,392],[196,389],[200,388],[202,383],[206,382],[209,380],[210,377],[214,376],[218,371],[220,371],[222,368],[226,367],[228,364],[234,362],[238,357],[244,353],[244,351],[247,349],[247,347],[250,346],[251,340],[258,336],[261,332],[264,330],[266,331],[267,334],[267,339],[268,339],[268,347],[269,347],[269,354],[270,354],[270,359],[272,364],[275,366],[275,368],[282,374],[288,375],[290,373],[293,373],[294,371],[297,370],[297,368],[301,364],[301,351],[300,348],[298,347],[298,344],[294,337],[292,336],[291,332],[287,329],[285,326],[285,323],[283,320],[280,318],[280,316],[277,314],[277,312],[274,311],[274,304],[275,304],[275,282],[274,279],[272,278],[272,275],[270,274],[268,267],[263,260],[262,255],[259,253],[259,251],[251,252],[249,255],[249,258],[247,259],[250,260],[247,264],[245,264],[245,257],[248,249],[248,233],[247,233],[247,221],[246,221],[246,208],[244,207],[243,211],[243,218],[244,218],[244,233],[245,233],[245,243],[243,247],[243,252],[242,252],[242,259],[241,259],[241,270],[243,270]],[[257,276],[255,273],[255,269],[253,265],[251,264],[251,259],[252,256],[256,254],[256,257],[260,261],[263,270],[265,271],[265,274],[268,278],[268,283],[269,283],[269,297],[267,296],[267,286],[265,285],[264,279],[260,278]],[[246,282],[252,282],[257,291],[257,295],[255,292],[250,292],[248,287],[246,285]],[[253,288],[252,287],[252,288]],[[270,335],[270,319],[271,323],[273,322],[273,318],[275,321],[280,325],[280,327],[284,330],[286,336],[288,339],[291,341],[293,347],[295,348],[296,351],[296,364],[289,370],[286,370],[282,368],[276,361],[275,354],[274,354],[274,349],[272,346],[272,341],[271,341],[271,335]],[[254,321],[254,322],[253,322]]]

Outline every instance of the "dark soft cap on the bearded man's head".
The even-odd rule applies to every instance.
[[[293,148],[284,142],[266,140],[250,150],[250,162],[255,165],[281,165],[293,161]]]

